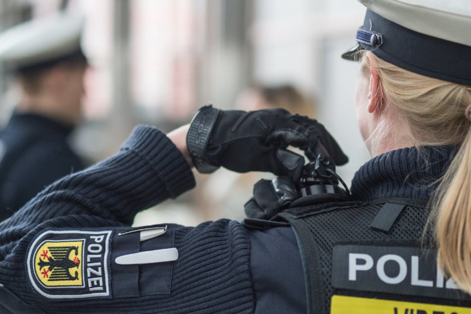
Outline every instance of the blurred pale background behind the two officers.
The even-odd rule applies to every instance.
[[[202,105],[273,104],[247,94],[280,86],[311,104],[305,112],[350,157],[337,168],[348,185],[368,159],[353,105],[358,65],[340,57],[363,23],[357,0],[1,0],[0,28],[58,10],[87,18],[82,45],[91,67],[73,146],[90,163],[117,152],[137,124],[168,132]],[[4,76],[0,91],[1,125],[16,100]],[[135,225],[241,219],[253,184],[269,177],[195,175],[195,190],[144,211]]]

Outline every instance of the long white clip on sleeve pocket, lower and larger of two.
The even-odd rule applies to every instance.
[[[172,262],[178,259],[177,248],[144,251],[118,256],[114,262],[120,265]]]

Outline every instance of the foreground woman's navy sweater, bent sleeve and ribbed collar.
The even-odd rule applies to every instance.
[[[357,172],[353,197],[428,198],[452,156],[453,148],[422,148],[375,157]],[[0,300],[34,313],[305,312],[290,227],[248,230],[221,219],[167,225],[145,241],[129,233],[137,212],[194,185],[173,143],[137,127],[118,154],[55,182],[0,226]],[[178,250],[176,261],[116,263],[166,248]]]

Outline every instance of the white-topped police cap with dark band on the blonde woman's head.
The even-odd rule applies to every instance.
[[[367,10],[360,50],[422,75],[471,85],[470,0],[359,0]]]

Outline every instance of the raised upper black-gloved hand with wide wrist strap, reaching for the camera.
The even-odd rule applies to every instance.
[[[319,144],[336,164],[348,161],[320,123],[281,108],[247,112],[204,106],[187,134],[190,156],[202,173],[223,166],[237,172],[269,171],[293,180],[299,179],[304,158],[286,148],[300,148],[312,161]]]

